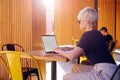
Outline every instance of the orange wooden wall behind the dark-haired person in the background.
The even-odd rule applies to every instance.
[[[118,41],[117,47],[120,47],[120,0],[116,0],[116,36],[115,35],[115,14],[114,0],[98,0],[98,29],[102,26],[108,28],[108,32],[113,36],[114,40]]]

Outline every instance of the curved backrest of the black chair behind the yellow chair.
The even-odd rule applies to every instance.
[[[24,49],[19,44],[4,44],[2,45],[2,51],[8,50],[8,51],[22,51],[24,52]]]

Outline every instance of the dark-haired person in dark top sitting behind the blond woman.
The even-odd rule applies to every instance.
[[[100,32],[102,33],[102,35],[105,37],[105,41],[106,41],[106,45],[107,47],[109,46],[110,41],[113,40],[112,36],[108,33],[107,28],[106,27],[102,27],[100,29]]]

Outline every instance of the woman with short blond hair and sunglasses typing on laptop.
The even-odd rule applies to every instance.
[[[76,47],[71,51],[54,49],[56,53],[73,60],[85,55],[93,64],[75,64],[71,73],[66,74],[63,80],[110,80],[117,65],[109,53],[105,38],[96,30],[98,14],[95,9],[86,7],[78,14],[80,29],[85,29]]]

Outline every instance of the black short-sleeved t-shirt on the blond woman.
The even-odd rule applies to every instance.
[[[77,46],[84,50],[85,56],[91,61],[92,64],[115,64],[112,55],[106,47],[105,38],[97,30],[85,32],[79,40]]]

